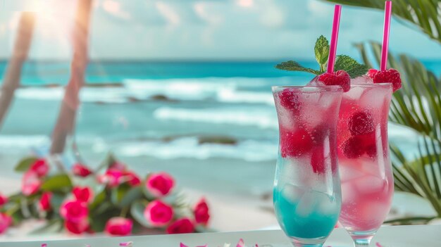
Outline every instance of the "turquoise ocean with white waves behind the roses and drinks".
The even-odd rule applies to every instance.
[[[92,166],[112,152],[140,171],[168,170],[186,186],[199,188],[197,176],[199,182],[211,184],[211,191],[225,190],[227,182],[229,191],[237,192],[237,183],[244,194],[271,191],[278,149],[271,86],[303,85],[313,77],[276,70],[275,64],[92,62],[67,151],[72,153],[76,144],[82,161]],[[440,74],[441,61],[425,65]],[[5,68],[6,63],[0,63],[0,74]],[[0,161],[8,163],[8,172],[11,160],[25,153],[47,153],[68,77],[69,63],[26,63],[23,87],[16,91],[0,129]],[[390,141],[406,150],[416,150],[412,134],[390,127]],[[71,157],[67,160],[68,165],[73,162]],[[232,175],[232,170],[237,173]],[[250,176],[243,177],[245,173]],[[249,186],[237,182],[240,179],[247,179]]]

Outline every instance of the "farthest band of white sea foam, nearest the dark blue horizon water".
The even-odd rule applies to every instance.
[[[118,87],[99,87],[99,84],[83,87],[80,99],[82,102],[128,103],[134,99],[144,101],[161,95],[176,101],[210,100],[273,105],[271,91],[256,91],[267,84],[264,78],[124,80]],[[15,91],[18,99],[38,101],[60,101],[63,94],[63,87],[25,87]]]

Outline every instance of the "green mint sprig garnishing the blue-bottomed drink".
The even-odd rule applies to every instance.
[[[275,65],[275,68],[279,70],[288,71],[302,71],[309,72],[314,75],[321,75],[325,72],[328,66],[329,59],[329,42],[323,35],[318,37],[316,41],[316,46],[314,46],[314,53],[316,55],[316,61],[319,65],[319,70],[314,70],[313,68],[306,68],[296,61],[287,61]],[[357,62],[354,58],[347,55],[339,55],[335,60],[335,71],[344,70],[351,78],[359,77],[365,75],[368,72],[368,66]]]

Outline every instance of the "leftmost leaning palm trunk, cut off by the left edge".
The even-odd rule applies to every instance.
[[[4,122],[6,113],[11,106],[15,89],[20,86],[20,75],[29,53],[34,33],[35,15],[30,12],[23,12],[18,24],[17,37],[8,68],[4,75],[3,85],[0,89],[0,127]]]

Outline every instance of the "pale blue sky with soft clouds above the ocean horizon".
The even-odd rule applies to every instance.
[[[69,59],[77,0],[0,1],[0,58],[11,54],[20,11],[35,11],[30,58]],[[318,0],[94,0],[92,59],[313,59],[321,34],[330,37],[333,4]],[[337,53],[383,35],[383,11],[344,6]],[[441,59],[441,45],[394,20],[390,50]]]

